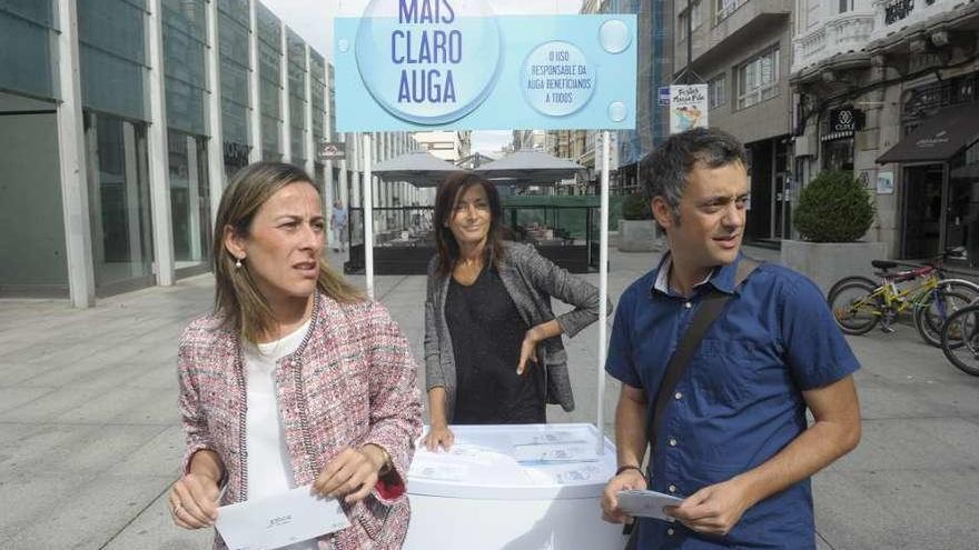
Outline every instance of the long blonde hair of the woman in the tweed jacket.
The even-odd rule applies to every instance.
[[[305,171],[283,162],[255,162],[231,179],[221,196],[214,231],[215,314],[226,328],[237,330],[245,339],[255,342],[263,334],[275,330],[275,314],[261,294],[247,264],[236,268],[235,258],[225,248],[225,228],[247,237],[255,214],[275,193],[290,183],[309,183],[319,192]],[[326,260],[319,258],[319,276],[316,288],[339,302],[356,302],[364,294],[337,274]]]

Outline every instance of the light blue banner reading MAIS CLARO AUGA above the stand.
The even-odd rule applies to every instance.
[[[340,132],[635,127],[635,16],[372,0],[334,37]]]

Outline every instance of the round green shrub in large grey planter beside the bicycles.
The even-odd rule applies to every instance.
[[[824,171],[799,194],[792,213],[801,241],[782,241],[783,266],[805,273],[823,292],[846,276],[873,276],[870,260],[886,242],[861,241],[873,223],[873,197],[850,172]]]

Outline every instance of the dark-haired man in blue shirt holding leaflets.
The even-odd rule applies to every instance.
[[[860,440],[857,359],[805,277],[763,263],[735,287],[749,182],[744,149],[710,129],[671,137],[641,170],[670,246],[616,307],[606,370],[622,381],[615,411],[619,473],[603,517],[624,522],[616,496],[684,497],[676,521],[640,519],[640,549],[815,549],[809,478]],[[647,421],[701,300],[730,294],[657,422]],[[814,422],[807,423],[805,410]]]

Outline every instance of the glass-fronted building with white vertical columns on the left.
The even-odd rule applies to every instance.
[[[364,140],[340,138],[346,161],[316,157],[336,138],[330,84],[258,1],[0,2],[0,296],[90,307],[209,270],[224,186],[248,162],[296,163],[325,203],[356,200]],[[413,147],[372,143],[375,160]]]

